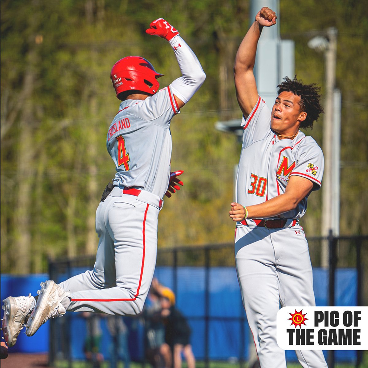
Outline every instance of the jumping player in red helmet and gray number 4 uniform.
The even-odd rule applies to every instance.
[[[119,110],[106,146],[116,167],[96,211],[99,236],[92,271],[56,284],[41,283],[31,296],[4,300],[3,331],[9,346],[26,323],[32,336],[48,319],[66,311],[136,315],[142,311],[156,265],[158,214],[162,198],[183,184],[170,174],[171,118],[203,84],[201,64],[179,32],[159,18],[146,30],[169,41],[182,76],[159,89],[161,77],[143,57],[128,56],[111,70]]]

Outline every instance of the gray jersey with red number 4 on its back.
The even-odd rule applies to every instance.
[[[170,86],[145,100],[125,100],[107,131],[115,186],[138,187],[163,197],[170,175],[170,120],[179,113]]]

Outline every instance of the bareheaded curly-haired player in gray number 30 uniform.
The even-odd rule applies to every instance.
[[[236,181],[236,269],[244,308],[262,368],[286,368],[276,342],[280,308],[315,306],[308,243],[299,219],[312,191],[321,187],[323,154],[299,128],[312,127],[323,112],[319,88],[284,78],[272,111],[258,95],[253,74],[264,26],[276,14],[263,7],[235,58],[234,78],[243,121]],[[276,57],[276,55],[275,55]],[[297,351],[302,367],[327,367],[322,351]]]

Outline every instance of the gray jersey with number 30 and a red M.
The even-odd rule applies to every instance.
[[[291,139],[278,139],[270,127],[271,111],[259,97],[254,109],[243,116],[243,146],[237,174],[236,202],[255,205],[283,194],[293,175],[308,178],[313,190],[321,187],[323,153],[312,137],[301,131]],[[257,168],[255,171],[255,167]],[[307,209],[307,198],[281,218],[297,219]]]

